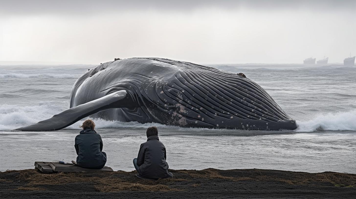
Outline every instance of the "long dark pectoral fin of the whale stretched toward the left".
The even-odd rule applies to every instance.
[[[111,108],[132,108],[136,106],[132,97],[125,90],[116,91],[99,99],[81,104],[53,115],[52,118],[42,120],[36,124],[22,127],[16,130],[21,131],[52,131],[66,128],[75,122]]]

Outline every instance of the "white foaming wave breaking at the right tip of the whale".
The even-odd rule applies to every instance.
[[[356,131],[356,109],[349,112],[326,113],[308,121],[297,121],[296,132],[313,132],[317,130],[352,130]]]

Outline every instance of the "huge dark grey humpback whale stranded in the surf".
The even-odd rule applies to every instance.
[[[70,108],[22,131],[59,130],[88,117],[179,127],[293,130],[271,96],[243,73],[163,58],[116,59],[85,72]]]

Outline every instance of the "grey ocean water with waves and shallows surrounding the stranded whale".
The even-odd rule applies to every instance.
[[[75,160],[80,122],[59,131],[11,131],[69,108],[74,82],[94,65],[0,66],[0,171],[35,161]],[[244,131],[95,120],[107,166],[132,171],[132,159],[158,127],[172,169],[261,168],[356,173],[356,67],[297,64],[213,65],[243,72],[297,121],[298,129]]]

